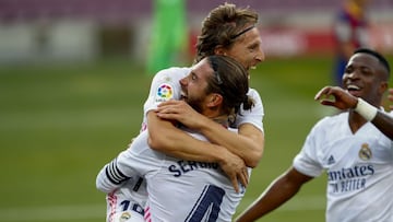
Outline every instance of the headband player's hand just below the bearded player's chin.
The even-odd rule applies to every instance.
[[[158,105],[156,114],[159,118],[176,120],[191,129],[198,129],[206,117],[195,112],[183,101],[167,101]]]

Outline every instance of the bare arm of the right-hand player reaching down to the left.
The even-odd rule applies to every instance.
[[[266,190],[240,213],[236,222],[255,221],[277,209],[294,197],[301,186],[312,178],[290,167],[286,173],[273,180]]]

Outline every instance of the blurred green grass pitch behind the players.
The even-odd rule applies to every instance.
[[[313,101],[330,57],[267,59],[251,82],[264,103],[265,152],[242,211],[282,174],[311,126],[334,109]],[[139,132],[152,77],[129,60],[0,68],[0,221],[105,221],[98,170]],[[324,221],[325,177],[260,221]]]

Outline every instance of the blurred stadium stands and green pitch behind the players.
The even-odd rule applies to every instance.
[[[187,1],[187,59],[203,17],[223,3]],[[266,61],[252,71],[266,150],[238,211],[285,171],[322,116],[332,16],[341,0],[231,0],[260,13]],[[98,170],[135,136],[151,75],[152,1],[0,0],[0,221],[105,220]],[[393,2],[373,0],[372,40],[393,63]],[[388,102],[386,102],[388,103]],[[324,176],[260,221],[324,221]]]

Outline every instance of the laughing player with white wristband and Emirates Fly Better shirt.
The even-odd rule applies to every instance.
[[[384,57],[366,48],[356,50],[345,68],[344,89],[325,86],[315,95],[322,105],[343,113],[311,129],[293,166],[237,222],[273,211],[323,171],[327,222],[393,221],[393,113],[381,108],[389,78]]]

